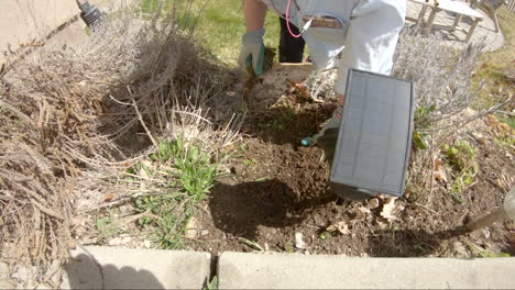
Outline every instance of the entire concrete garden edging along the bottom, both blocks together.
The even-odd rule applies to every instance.
[[[359,258],[116,247],[73,252],[65,289],[514,289],[515,258]],[[1,282],[1,279],[0,279]],[[1,286],[1,283],[0,283]]]

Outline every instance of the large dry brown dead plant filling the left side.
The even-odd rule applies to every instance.
[[[117,168],[156,140],[183,134],[212,153],[227,140],[207,119],[227,69],[176,9],[151,19],[118,11],[85,43],[43,47],[0,78],[1,258],[39,266],[40,282],[74,245],[77,192],[131,194],[116,187]]]

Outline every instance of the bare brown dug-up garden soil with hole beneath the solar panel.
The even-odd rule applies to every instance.
[[[456,202],[437,181],[424,198],[408,188],[395,203],[382,194],[351,202],[337,198],[327,186],[330,168],[324,152],[299,146],[328,119],[328,111],[313,103],[294,108],[248,119],[243,141],[231,148],[235,153],[227,172],[198,207],[196,227],[202,235],[187,241],[187,248],[375,257],[514,254],[512,222],[460,232],[470,219],[502,205],[505,189],[500,176],[513,180],[515,174],[513,149],[495,142],[484,120],[470,126],[485,137],[484,144],[469,137],[478,146],[480,170],[475,183],[462,193],[463,202]],[[384,219],[388,204],[396,204],[395,215]]]

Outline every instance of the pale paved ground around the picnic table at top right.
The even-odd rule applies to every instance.
[[[460,1],[460,0],[456,0]],[[406,15],[410,18],[417,18],[418,13],[420,12],[423,5],[418,3],[414,3],[412,1],[407,2],[407,11]],[[478,27],[475,27],[474,33],[472,34],[472,40],[470,41],[471,43],[479,43],[484,41],[486,44],[485,51],[486,52],[494,52],[500,49],[504,45],[504,36],[502,32],[495,32],[495,25],[492,19],[484,13],[482,10],[476,9],[478,12],[483,14],[484,19],[479,23]],[[426,20],[429,15],[429,9],[426,13]],[[447,12],[438,12],[435,24],[441,24],[441,25],[452,25],[454,22],[454,15],[451,13]],[[413,25],[415,24],[414,22],[406,22],[407,25]],[[465,30],[469,30],[472,24],[472,20],[470,18],[463,18],[463,20],[460,22],[460,26],[464,27]],[[461,31],[445,31],[445,30],[438,30],[434,29],[432,34],[439,34],[443,38],[443,41],[449,44],[453,45],[457,47],[464,47],[467,44],[463,42],[467,37],[467,35],[461,32]]]

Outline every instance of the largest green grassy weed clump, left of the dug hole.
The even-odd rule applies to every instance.
[[[136,211],[151,213],[139,219],[138,224],[152,227],[161,248],[178,249],[186,225],[194,216],[195,203],[215,185],[218,164],[211,163],[209,154],[199,146],[186,146],[182,136],[158,142],[157,149],[149,158],[156,168],[167,165],[169,169],[161,174],[169,181],[161,188],[166,193],[135,200]],[[140,172],[141,169],[149,170],[146,174],[151,176],[151,170],[142,164],[136,164],[132,171]]]

